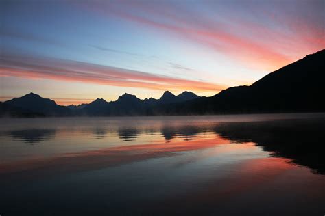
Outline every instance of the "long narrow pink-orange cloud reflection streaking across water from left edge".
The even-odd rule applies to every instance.
[[[184,141],[184,138],[176,138],[175,141],[169,143],[164,141],[154,144],[117,146],[86,152],[58,154],[55,157],[49,158],[34,158],[12,163],[2,163],[0,165],[0,173],[49,168],[58,168],[60,170],[99,169],[228,143],[227,139],[216,137],[215,135],[211,135],[208,139],[195,139],[191,141]]]

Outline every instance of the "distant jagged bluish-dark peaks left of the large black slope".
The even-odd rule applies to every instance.
[[[107,102],[97,98],[89,104],[62,106],[54,100],[42,98],[38,94],[29,93],[20,98],[13,98],[0,103],[1,116],[139,116],[147,115],[154,107],[182,103],[200,98],[193,92],[182,92],[174,95],[164,92],[159,99],[141,100],[132,94],[123,94],[115,101]]]

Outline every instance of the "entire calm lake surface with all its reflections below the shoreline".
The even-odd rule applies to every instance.
[[[1,119],[0,215],[324,215],[325,114]]]

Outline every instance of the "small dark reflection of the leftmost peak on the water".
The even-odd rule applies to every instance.
[[[52,139],[56,135],[55,129],[27,129],[19,131],[9,131],[8,136],[14,140],[23,140],[28,144],[36,144],[43,140]]]

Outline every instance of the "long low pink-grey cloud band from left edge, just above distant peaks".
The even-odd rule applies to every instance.
[[[219,92],[226,86],[67,59],[3,55],[0,76],[55,79],[152,90]]]

